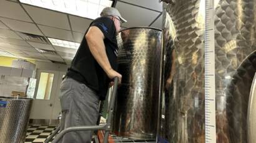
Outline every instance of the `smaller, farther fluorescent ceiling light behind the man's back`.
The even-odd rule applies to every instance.
[[[70,42],[67,40],[59,40],[59,39],[53,39],[53,38],[48,38],[49,41],[51,42],[52,45],[57,45],[60,47],[66,47],[66,48],[74,48],[74,49],[78,49],[79,48],[79,43],[75,43],[75,42]]]

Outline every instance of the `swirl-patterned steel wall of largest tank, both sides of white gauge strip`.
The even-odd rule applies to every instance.
[[[159,139],[169,142],[205,142],[202,2],[164,4],[164,33],[170,31],[164,40],[174,41],[175,74],[171,94],[164,94],[169,96],[163,113],[170,132],[160,132]],[[214,7],[217,142],[247,142],[247,108],[256,71],[256,1],[217,0]]]

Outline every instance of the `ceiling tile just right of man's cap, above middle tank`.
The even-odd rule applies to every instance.
[[[122,17],[127,20],[123,25],[125,27],[140,27],[149,26],[160,13],[143,9],[137,6],[132,6],[123,2],[117,2],[116,8],[122,14]]]

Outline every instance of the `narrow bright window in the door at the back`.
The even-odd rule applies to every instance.
[[[36,99],[50,99],[54,73],[42,72],[38,84]]]

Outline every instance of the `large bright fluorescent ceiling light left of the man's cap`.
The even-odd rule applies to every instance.
[[[24,4],[43,7],[76,16],[96,19],[104,7],[111,7],[112,0],[19,0]]]

